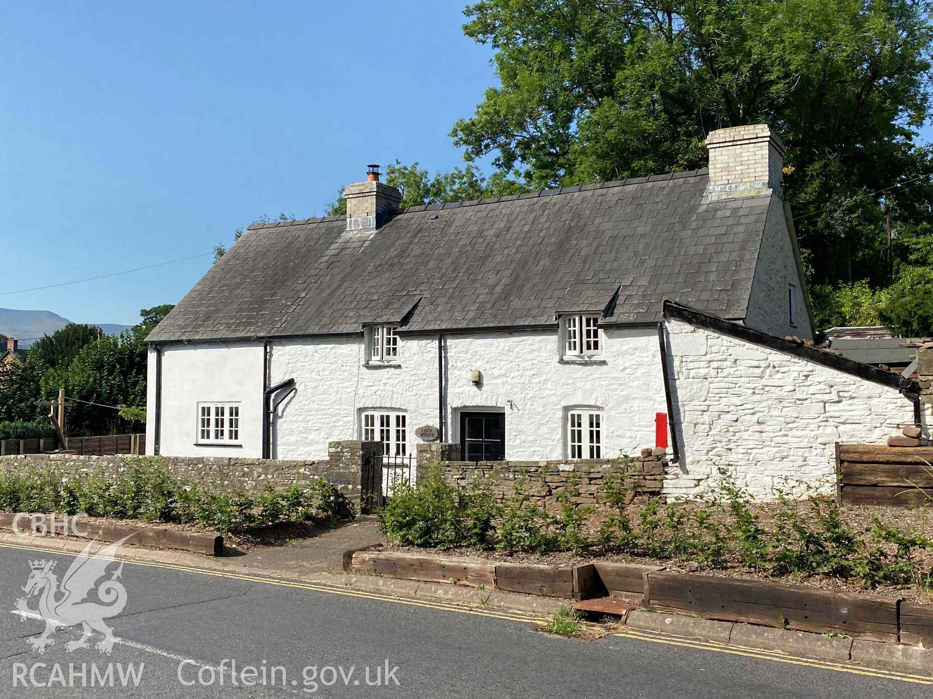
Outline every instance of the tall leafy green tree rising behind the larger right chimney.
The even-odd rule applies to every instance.
[[[933,199],[926,0],[480,0],[464,31],[501,82],[452,135],[534,186],[705,164],[710,130],[767,122],[815,281],[890,281],[885,216]],[[879,190],[885,190],[880,192]],[[912,226],[916,227],[916,226]],[[895,266],[896,267],[896,266]]]

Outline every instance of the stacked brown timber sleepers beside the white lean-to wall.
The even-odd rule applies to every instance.
[[[836,445],[837,496],[860,505],[933,505],[933,447]]]

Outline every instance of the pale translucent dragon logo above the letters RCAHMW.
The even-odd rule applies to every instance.
[[[32,572],[29,580],[22,587],[26,596],[16,601],[14,611],[21,614],[23,621],[27,616],[37,616],[46,623],[46,629],[41,635],[29,639],[33,650],[41,654],[46,651],[47,647],[54,645],[55,639],[52,635],[59,626],[81,624],[84,628],[82,636],[77,640],[69,641],[66,645],[67,651],[88,648],[88,639],[96,631],[104,638],[95,645],[95,648],[102,653],[110,654],[118,638],[114,636],[113,629],[104,624],[104,619],[117,616],[126,606],[126,588],[123,587],[123,583],[118,582],[123,572],[123,562],[120,561],[119,568],[110,575],[109,579],[99,585],[97,582],[106,575],[107,567],[116,561],[115,556],[120,544],[129,538],[124,537],[115,541],[94,555],[91,555],[91,544],[94,541],[89,541],[69,569],[65,571],[61,584],[54,572],[55,561],[29,562]],[[92,592],[96,592],[99,601],[88,599]],[[38,596],[38,610],[32,610],[29,607],[28,598],[32,596]]]

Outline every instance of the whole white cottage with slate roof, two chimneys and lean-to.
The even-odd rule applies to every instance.
[[[251,226],[148,337],[146,445],[318,459],[363,439],[394,456],[420,434],[469,460],[662,445],[673,494],[717,466],[761,497],[783,476],[828,482],[836,441],[919,423],[916,387],[785,339],[814,331],[783,145],[749,126],[707,146],[708,171],[406,210],[370,173],[346,216]]]

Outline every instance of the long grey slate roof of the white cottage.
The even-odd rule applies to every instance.
[[[403,331],[571,310],[648,323],[664,297],[741,319],[769,198],[703,203],[706,185],[690,171],[420,206],[362,237],[342,216],[251,226],[148,341],[358,333],[406,314]]]

